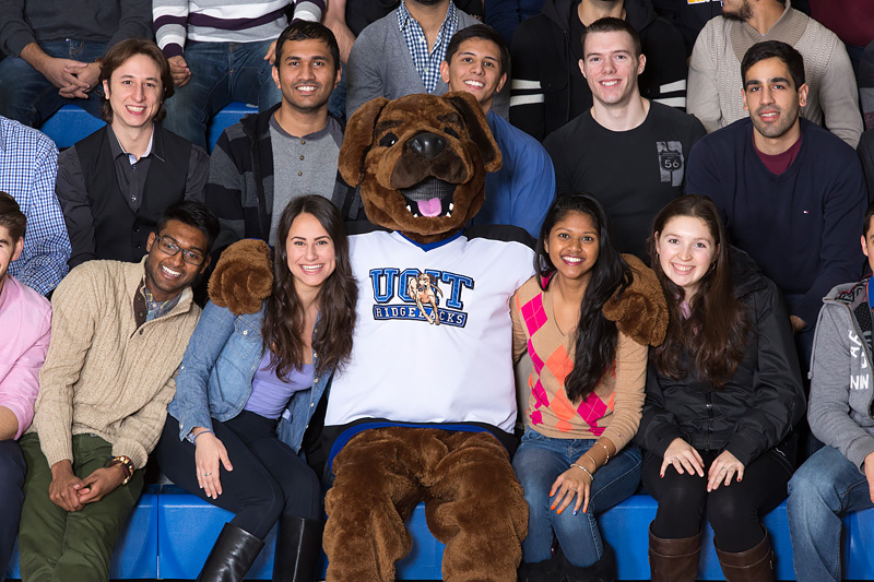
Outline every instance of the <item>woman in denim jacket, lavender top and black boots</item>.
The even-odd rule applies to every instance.
[[[257,312],[203,310],[157,447],[174,483],[236,514],[198,580],[243,580],[276,520],[273,580],[316,579],[321,490],[298,453],[352,348],[357,287],[329,200],[292,201],[276,240],[272,293]]]

